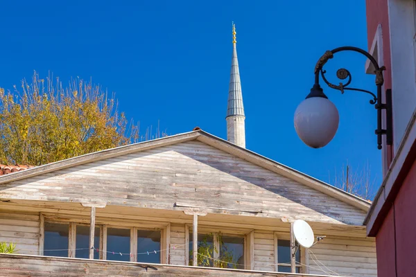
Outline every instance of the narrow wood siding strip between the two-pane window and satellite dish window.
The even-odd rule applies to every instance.
[[[254,231],[254,270],[275,271],[275,234]]]

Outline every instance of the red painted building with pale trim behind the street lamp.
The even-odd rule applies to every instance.
[[[376,238],[379,277],[416,276],[416,1],[366,3],[369,51],[386,67],[383,91],[392,89],[393,106],[393,145],[383,142],[367,235]]]

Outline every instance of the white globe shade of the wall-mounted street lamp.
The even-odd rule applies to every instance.
[[[311,148],[322,148],[335,136],[339,123],[338,109],[326,97],[309,97],[295,111],[295,129]]]

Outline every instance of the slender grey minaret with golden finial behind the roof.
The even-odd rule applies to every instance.
[[[245,148],[245,116],[236,44],[236,25],[232,24],[231,76],[229,78],[227,117],[225,118],[227,120],[227,141]]]

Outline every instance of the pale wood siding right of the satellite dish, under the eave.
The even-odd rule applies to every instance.
[[[374,277],[376,244],[372,239],[325,238],[311,248],[309,266],[315,268],[309,269],[311,274],[323,274],[319,269],[330,274],[330,269],[343,276]]]

